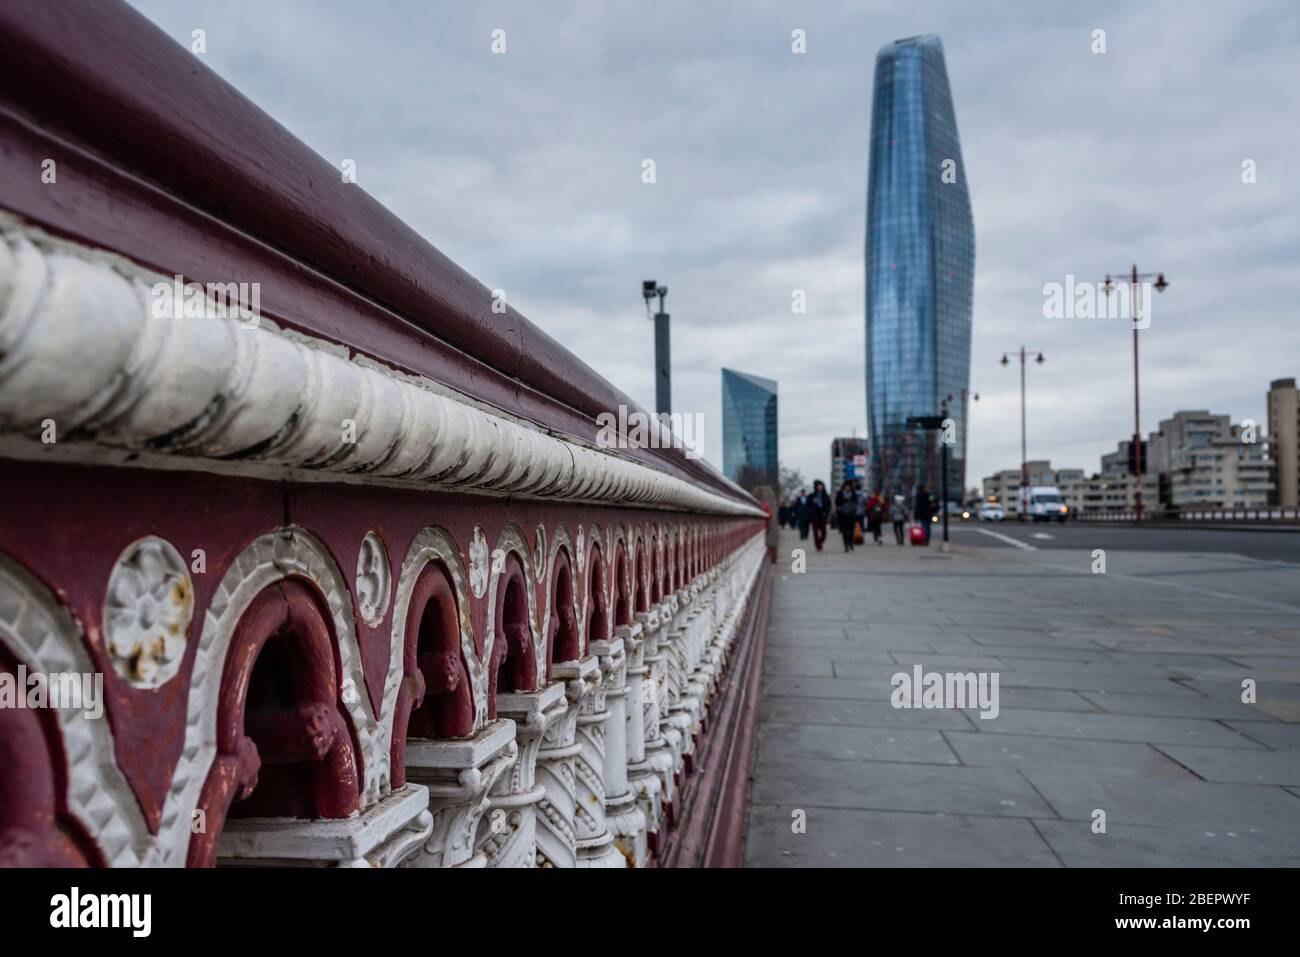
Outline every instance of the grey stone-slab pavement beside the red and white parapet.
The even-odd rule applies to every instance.
[[[935,545],[783,533],[748,865],[1300,865],[1300,567]],[[915,664],[998,716],[893,707]]]

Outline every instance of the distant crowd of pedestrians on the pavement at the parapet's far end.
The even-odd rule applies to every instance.
[[[930,544],[931,518],[939,511],[935,497],[920,485],[909,506],[901,492],[892,497],[883,492],[866,492],[861,482],[845,478],[832,501],[826,484],[818,478],[812,492],[800,489],[800,493],[780,506],[777,520],[783,528],[797,528],[800,538],[812,533],[812,544],[820,551],[826,545],[827,528],[835,528],[844,540],[844,550],[853,551],[867,536],[876,545],[884,545],[881,529],[885,521],[893,523],[894,542],[904,545],[909,523],[920,525],[926,545]]]

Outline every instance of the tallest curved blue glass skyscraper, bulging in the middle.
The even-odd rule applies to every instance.
[[[867,173],[867,423],[871,481],[911,494],[939,490],[940,437],[906,426],[956,423],[949,498],[965,488],[975,225],[957,117],[935,35],[876,55]]]

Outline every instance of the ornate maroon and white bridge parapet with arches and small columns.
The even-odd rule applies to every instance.
[[[757,502],[125,4],[0,46],[0,866],[736,862]]]

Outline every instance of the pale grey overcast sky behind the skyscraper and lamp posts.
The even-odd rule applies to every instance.
[[[1294,0],[133,3],[186,46],[205,30],[212,69],[646,407],[640,286],[666,283],[673,404],[706,416],[715,464],[722,367],[779,381],[781,459],[809,478],[864,434],[872,70],[919,33],[946,48],[975,215],[967,484],[1019,463],[998,359],[1022,343],[1046,356],[1031,458],[1093,471],[1132,430],[1128,326],[1043,316],[1067,273],[1136,259],[1171,282],[1144,430],[1178,408],[1264,421],[1269,381],[1300,376]]]

